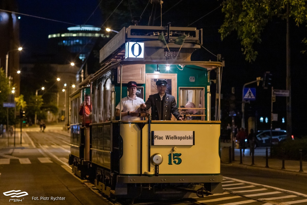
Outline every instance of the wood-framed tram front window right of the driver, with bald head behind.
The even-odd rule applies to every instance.
[[[202,115],[201,119],[204,120],[205,116],[205,106],[204,106],[204,88],[187,88],[179,87],[179,112],[181,114],[186,114],[189,120],[192,113],[188,113],[185,109],[185,105],[190,102],[195,105],[194,111],[196,115]]]

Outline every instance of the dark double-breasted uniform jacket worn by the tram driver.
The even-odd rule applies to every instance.
[[[178,111],[175,97],[172,95],[165,93],[161,101],[159,93],[156,93],[150,95],[145,104],[145,110],[149,110],[151,107],[152,120],[171,120],[171,114],[173,114],[177,120],[179,117],[182,117]]]

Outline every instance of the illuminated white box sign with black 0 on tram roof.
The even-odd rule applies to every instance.
[[[144,59],[144,43],[126,42],[125,59],[126,60]]]

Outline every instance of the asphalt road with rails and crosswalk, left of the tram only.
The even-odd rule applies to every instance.
[[[10,199],[18,199],[18,204],[111,204],[71,173],[68,136],[52,132],[28,135],[36,148],[2,150],[1,158],[9,159],[9,164],[0,164],[1,192],[20,190],[28,195],[11,198],[1,194],[0,204],[13,203]]]

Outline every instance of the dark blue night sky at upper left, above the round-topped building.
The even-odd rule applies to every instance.
[[[97,0],[17,0],[17,3],[19,13],[22,14],[54,19],[75,25],[86,23],[87,25],[100,26],[103,23],[99,8],[91,16],[98,5]],[[87,21],[90,16],[91,18]],[[72,24],[21,15],[20,42],[24,48],[23,55],[45,53],[48,35],[67,30],[68,27],[74,26]]]

